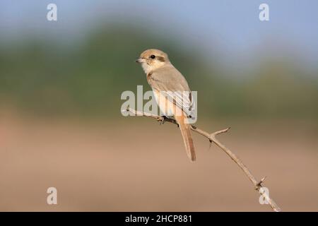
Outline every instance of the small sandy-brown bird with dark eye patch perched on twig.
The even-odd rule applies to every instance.
[[[187,80],[170,62],[167,54],[159,49],[147,49],[136,59],[146,73],[148,84],[165,117],[174,117],[182,134],[189,160],[196,160],[191,124],[194,110],[192,91]]]

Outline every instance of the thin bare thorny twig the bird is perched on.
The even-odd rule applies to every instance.
[[[159,115],[155,115],[155,114],[150,114],[147,112],[139,112],[136,111],[135,109],[131,109],[131,108],[127,108],[126,109],[127,112],[130,112],[131,115],[135,115],[135,116],[143,116],[143,117],[149,117],[149,118],[153,118],[153,119],[157,119],[157,121],[161,121],[162,123],[164,123],[165,121],[170,122],[172,124],[177,124],[177,121],[175,121],[174,119],[169,119],[166,117],[161,117]],[[262,185],[262,183],[264,182],[264,180],[266,179],[266,177],[262,178],[260,181],[257,181],[257,179],[255,179],[255,177],[252,175],[251,172],[249,172],[249,169],[244,165],[244,163],[240,160],[240,158],[238,158],[234,153],[232,153],[232,151],[230,151],[228,148],[225,147],[225,145],[223,145],[222,143],[220,143],[220,141],[218,141],[218,139],[216,139],[216,135],[219,135],[221,133],[226,133],[229,131],[229,128],[220,130],[220,131],[216,131],[214,133],[207,133],[206,131],[203,131],[199,128],[197,128],[196,126],[192,126],[191,128],[193,131],[196,131],[196,133],[201,134],[202,136],[205,136],[206,138],[208,138],[208,141],[210,141],[211,143],[215,143],[220,149],[222,149],[228,156],[230,156],[230,158],[243,170],[243,172],[247,175],[247,177],[249,178],[249,180],[252,182],[252,184],[254,185],[254,189],[257,190],[259,192],[259,194],[261,194],[261,196],[264,196],[264,198],[266,199],[267,203],[269,203],[269,206],[271,206],[271,208],[276,211],[276,212],[280,212],[281,208],[279,208],[279,206],[277,206],[277,204],[273,201],[273,199],[269,198],[268,195],[265,194],[264,189],[261,189],[262,187],[264,187]]]

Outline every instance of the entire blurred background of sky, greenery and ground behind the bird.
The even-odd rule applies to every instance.
[[[57,21],[47,5],[57,4]],[[259,5],[269,4],[269,21]],[[0,1],[0,210],[269,211],[245,174],[177,126],[123,117],[162,49],[285,211],[318,210],[317,1]],[[47,188],[58,205],[47,205]]]

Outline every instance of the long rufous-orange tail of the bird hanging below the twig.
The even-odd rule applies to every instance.
[[[175,116],[175,120],[179,124],[179,128],[182,134],[184,146],[187,151],[187,155],[189,159],[194,162],[196,160],[196,153],[194,152],[194,145],[193,140],[191,136],[191,124],[187,124],[185,120],[187,118],[184,115],[181,116]]]

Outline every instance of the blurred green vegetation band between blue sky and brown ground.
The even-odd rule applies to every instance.
[[[274,57],[240,79],[225,75],[213,59],[183,47],[177,38],[161,39],[124,25],[96,29],[76,48],[49,40],[21,43],[1,47],[0,107],[25,114],[121,117],[124,90],[135,91],[136,85],[150,90],[134,59],[144,49],[158,48],[199,91],[199,116],[318,119],[318,71],[306,74]]]

